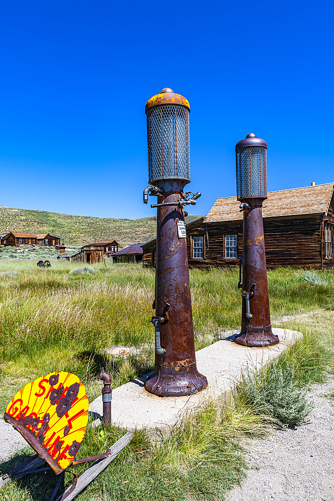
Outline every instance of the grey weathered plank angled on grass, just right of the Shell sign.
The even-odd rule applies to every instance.
[[[121,450],[124,449],[124,447],[128,445],[129,442],[131,442],[132,437],[133,434],[128,431],[124,436],[122,436],[122,438],[117,440],[117,442],[110,447],[111,453],[108,457],[106,457],[105,459],[99,459],[98,461],[95,461],[95,463],[93,463],[92,466],[90,466],[90,468],[84,471],[84,473],[80,475],[80,477],[78,478],[76,488],[71,492],[71,494],[68,495],[68,497],[66,497],[66,501],[71,501],[85,487],[87,487],[87,485],[92,480],[94,480],[94,478],[96,478],[98,474],[101,473],[101,471],[103,471],[108,466],[108,464],[111,463],[113,459],[115,459],[115,457],[121,452]],[[68,492],[68,490],[70,490],[70,488],[71,486],[65,491],[65,494],[66,492]],[[61,501],[62,496],[63,494],[57,497],[56,501]]]

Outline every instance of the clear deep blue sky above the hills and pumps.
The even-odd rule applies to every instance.
[[[333,182],[332,2],[2,2],[0,204],[144,217],[146,101],[190,102],[192,213],[234,195],[234,146],[268,190]]]

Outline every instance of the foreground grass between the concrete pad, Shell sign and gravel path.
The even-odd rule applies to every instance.
[[[78,496],[78,501],[224,499],[227,490],[241,482],[248,468],[240,440],[266,435],[271,422],[239,401],[233,404],[227,401],[224,405],[209,402],[170,432],[162,433],[158,440],[153,440],[145,430],[136,431],[130,445]],[[78,458],[104,452],[124,433],[115,426],[88,427]],[[21,451],[6,465],[7,469],[27,454],[29,450]],[[81,474],[86,468],[87,465],[78,465],[75,471]],[[72,479],[66,473],[63,488]],[[11,501],[21,498],[44,501],[49,499],[55,483],[52,473],[24,477],[0,490],[0,496],[3,495],[0,498],[7,495]]]

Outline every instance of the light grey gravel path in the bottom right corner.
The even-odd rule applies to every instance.
[[[274,431],[253,440],[245,458],[253,468],[228,501],[334,500],[334,380],[313,385],[308,397],[315,407],[309,421],[296,429]]]

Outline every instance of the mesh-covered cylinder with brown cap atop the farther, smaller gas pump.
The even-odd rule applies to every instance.
[[[267,143],[248,134],[235,146],[237,199],[267,198]]]

